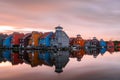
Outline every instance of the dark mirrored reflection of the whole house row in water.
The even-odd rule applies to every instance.
[[[112,49],[112,48],[110,48]],[[96,58],[99,54],[105,54],[107,48],[85,48],[76,51],[40,51],[40,50],[0,50],[0,63],[9,61],[12,65],[26,63],[31,67],[49,66],[55,67],[55,72],[63,72],[63,68],[69,62],[69,58],[81,61],[84,55]],[[118,52],[118,49],[117,49]]]

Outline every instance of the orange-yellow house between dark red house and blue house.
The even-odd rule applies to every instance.
[[[42,35],[43,33],[41,32],[39,33],[37,31],[33,31],[32,36],[30,37],[30,40],[29,40],[29,46],[34,46],[34,47],[39,46],[39,39]]]

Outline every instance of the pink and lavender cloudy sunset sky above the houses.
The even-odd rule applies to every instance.
[[[0,32],[54,31],[120,40],[120,0],[0,0]]]

